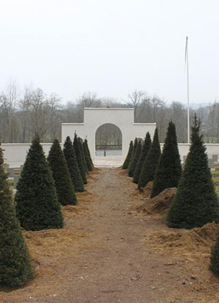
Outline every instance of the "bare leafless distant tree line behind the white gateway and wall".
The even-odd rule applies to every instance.
[[[64,104],[60,96],[52,93],[47,96],[42,89],[27,87],[19,91],[16,82],[10,81],[0,94],[0,137],[2,143],[29,143],[35,133],[42,142],[52,142],[54,137],[61,139],[61,124],[65,122],[83,122],[84,107],[133,107],[135,122],[156,122],[161,142],[165,139],[165,130],[172,120],[176,125],[178,142],[187,142],[187,109],[178,101],[167,103],[159,96],[149,96],[145,91],[135,90],[126,100],[98,98],[95,93],[84,93],[78,99]],[[219,102],[196,109],[202,121],[201,132],[207,143],[219,143]],[[190,110],[190,115],[194,110]],[[106,127],[98,131],[101,144],[106,142]],[[121,136],[111,129],[112,136]],[[101,139],[102,138],[102,139]],[[107,141],[107,142],[108,142]],[[120,144],[121,137],[115,137]]]

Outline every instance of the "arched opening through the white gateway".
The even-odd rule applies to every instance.
[[[112,123],[102,124],[95,132],[95,157],[122,155],[122,131]]]

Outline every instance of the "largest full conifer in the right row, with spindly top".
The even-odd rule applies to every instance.
[[[167,216],[169,227],[201,227],[219,221],[219,203],[208,167],[200,121],[194,116],[191,146],[178,183],[176,197]]]

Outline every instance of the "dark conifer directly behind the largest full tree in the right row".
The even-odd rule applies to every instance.
[[[165,188],[176,188],[178,180],[181,177],[182,166],[178,153],[178,144],[176,139],[176,128],[171,121],[168,126],[168,132],[165,137],[163,151],[161,153],[157,170],[154,176],[154,183],[150,198],[157,196]]]

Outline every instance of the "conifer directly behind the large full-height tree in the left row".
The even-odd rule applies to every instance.
[[[47,160],[55,181],[58,202],[62,205],[76,205],[76,193],[58,139],[54,139]]]

